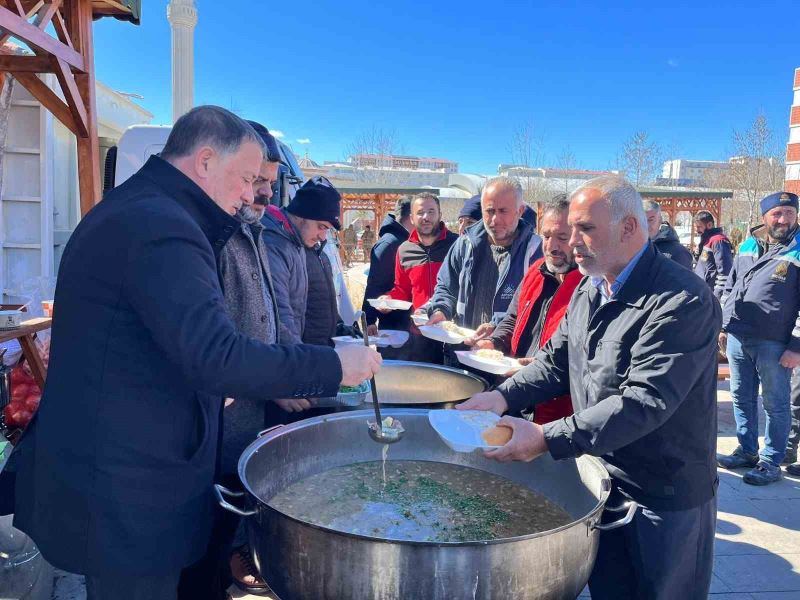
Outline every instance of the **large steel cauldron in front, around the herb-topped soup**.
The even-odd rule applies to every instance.
[[[406,434],[389,460],[432,460],[475,467],[535,489],[575,520],[539,534],[492,542],[391,542],[339,533],[279,513],[266,504],[278,491],[333,467],[380,460],[380,444],[367,435],[367,411],[308,419],[267,432],[239,460],[256,563],[281,600],[525,600],[575,598],[597,554],[598,525],[609,495],[608,473],[592,457],[556,463],[500,464],[481,455],[452,452],[428,424],[427,411],[385,411],[402,420]]]

